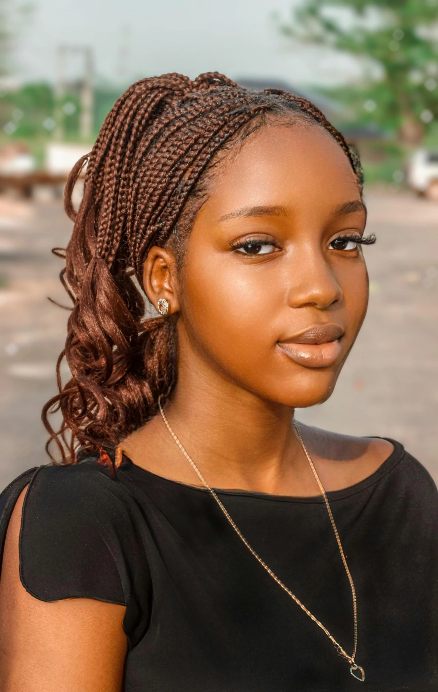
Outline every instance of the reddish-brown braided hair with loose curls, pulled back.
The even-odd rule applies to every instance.
[[[170,394],[175,319],[145,316],[143,262],[153,245],[190,232],[219,154],[270,114],[324,127],[362,185],[356,154],[315,105],[280,89],[250,92],[219,73],[136,82],[73,168],[64,197],[73,234],[65,252],[55,248],[66,260],[60,277],[73,309],[57,361],[58,393],[42,412],[47,450],[55,440],[64,462],[76,460],[78,445],[102,451],[102,444],[117,444],[155,414],[158,397]],[[85,165],[76,211],[71,195]],[[71,379],[63,385],[64,357]],[[62,424],[55,432],[48,415],[58,410]]]

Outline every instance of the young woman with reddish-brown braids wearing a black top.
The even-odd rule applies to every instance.
[[[113,107],[66,188],[62,464],[0,500],[1,692],[438,689],[435,485],[293,419],[365,317],[361,185],[289,93],[172,74]]]

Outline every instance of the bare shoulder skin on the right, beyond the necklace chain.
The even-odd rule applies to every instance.
[[[304,426],[300,430],[318,464],[325,488],[340,490],[372,475],[394,451],[394,445],[381,437],[354,437]]]

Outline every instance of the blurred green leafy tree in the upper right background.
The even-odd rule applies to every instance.
[[[416,145],[438,118],[438,0],[302,0],[280,28],[361,60],[362,84],[325,90],[356,122]]]

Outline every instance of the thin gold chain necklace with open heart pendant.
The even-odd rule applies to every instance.
[[[338,654],[339,654],[340,656],[342,656],[342,657],[350,664],[350,673],[352,673],[353,677],[355,677],[356,680],[359,680],[360,682],[364,682],[364,680],[365,680],[365,671],[363,670],[363,668],[361,668],[361,666],[358,666],[358,664],[357,664],[357,663],[355,662],[355,660],[354,660],[355,657],[356,657],[356,648],[357,648],[357,599],[356,599],[356,589],[354,588],[354,582],[353,582],[353,579],[352,579],[352,575],[350,574],[350,571],[349,571],[349,568],[348,568],[348,565],[347,565],[347,560],[345,559],[345,554],[344,554],[344,551],[343,551],[343,547],[342,547],[342,544],[340,543],[340,538],[339,538],[339,534],[338,534],[338,529],[336,528],[335,520],[334,520],[333,514],[331,513],[331,507],[330,507],[330,504],[329,504],[329,500],[328,500],[328,498],[327,498],[327,493],[325,492],[324,486],[322,485],[322,482],[320,481],[320,477],[318,476],[318,473],[317,473],[317,471],[316,471],[316,468],[315,468],[315,466],[313,465],[311,456],[310,456],[310,454],[309,454],[309,450],[307,450],[307,446],[306,446],[306,444],[304,443],[304,439],[302,439],[301,430],[300,430],[300,428],[298,427],[298,424],[296,424],[296,423],[294,422],[293,427],[295,428],[295,432],[297,433],[298,440],[300,441],[300,444],[301,444],[301,446],[302,446],[302,450],[303,450],[303,452],[304,452],[304,455],[306,456],[307,461],[309,462],[309,466],[310,466],[310,468],[311,468],[311,470],[312,470],[312,472],[313,472],[313,475],[314,475],[314,477],[315,477],[315,480],[316,480],[316,482],[318,483],[318,487],[319,487],[319,489],[320,489],[320,493],[321,493],[322,497],[324,498],[325,506],[327,507],[327,512],[329,513],[329,518],[330,518],[330,521],[331,521],[331,525],[332,525],[332,527],[333,527],[334,534],[335,534],[335,536],[336,536],[336,542],[338,543],[338,548],[339,548],[340,556],[341,556],[341,558],[342,558],[343,565],[344,565],[344,567],[345,567],[345,572],[347,572],[347,577],[348,577],[349,585],[350,585],[350,588],[351,588],[351,590],[352,590],[352,597],[353,597],[353,621],[354,621],[354,643],[353,643],[353,653],[352,653],[351,656],[349,656],[349,655],[347,654],[347,652],[343,649],[343,647],[340,646],[340,644],[338,644],[338,642],[336,641],[336,639],[334,638],[334,636],[330,634],[329,630],[327,630],[327,627],[325,627],[325,626],[322,624],[322,622],[320,622],[320,621],[318,620],[318,618],[316,618],[316,617],[313,615],[313,613],[311,613],[310,610],[309,610],[308,608],[306,608],[306,606],[304,605],[304,603],[302,603],[302,602],[300,601],[300,599],[298,599],[298,598],[295,596],[295,594],[293,594],[293,593],[291,592],[291,590],[287,588],[287,586],[281,581],[281,579],[279,579],[279,578],[277,577],[277,575],[274,574],[274,572],[271,570],[271,567],[268,567],[268,565],[266,565],[266,563],[262,560],[262,558],[255,552],[255,550],[253,549],[253,547],[250,546],[250,544],[249,544],[248,541],[246,540],[245,536],[241,533],[239,527],[235,524],[235,522],[232,520],[232,518],[231,518],[230,515],[228,514],[228,511],[227,511],[226,508],[223,506],[221,500],[220,500],[219,497],[217,496],[217,493],[216,493],[216,492],[212,489],[212,487],[208,484],[208,482],[206,481],[206,479],[203,477],[201,471],[199,471],[199,468],[198,468],[197,465],[194,463],[192,457],[190,457],[190,455],[188,454],[188,452],[185,450],[185,448],[184,448],[183,445],[181,444],[181,441],[179,440],[179,438],[176,437],[176,434],[175,434],[174,430],[172,429],[172,427],[170,426],[170,423],[169,423],[169,421],[167,420],[167,417],[166,417],[166,415],[165,415],[165,412],[163,411],[163,407],[161,406],[161,401],[158,401],[158,408],[160,409],[161,417],[163,418],[164,424],[165,424],[165,426],[166,426],[168,432],[170,433],[172,439],[173,439],[174,442],[176,443],[176,446],[179,447],[179,449],[181,450],[181,452],[183,453],[183,455],[185,456],[185,458],[188,460],[188,462],[190,463],[190,466],[192,466],[194,472],[195,472],[195,473],[197,474],[197,476],[199,477],[199,480],[201,481],[201,483],[203,484],[203,486],[206,488],[206,490],[208,490],[208,492],[212,495],[212,497],[215,498],[215,500],[216,500],[217,504],[219,505],[219,507],[220,507],[222,513],[226,516],[226,519],[228,520],[228,522],[230,523],[230,525],[232,526],[232,528],[235,530],[237,536],[239,536],[241,542],[244,543],[244,545],[246,545],[246,547],[248,548],[249,552],[250,552],[251,554],[253,554],[253,556],[255,557],[255,559],[257,560],[257,562],[259,562],[260,565],[262,565],[262,567],[264,568],[264,570],[266,570],[266,572],[268,572],[268,574],[273,578],[273,580],[274,580],[275,582],[277,582],[277,584],[286,592],[286,594],[288,594],[288,595],[291,597],[291,599],[293,599],[293,601],[295,601],[295,603],[296,603],[297,605],[300,606],[301,610],[304,610],[304,612],[309,616],[309,618],[310,618],[311,620],[313,620],[313,622],[314,622],[316,625],[318,625],[318,627],[320,627],[320,628],[322,629],[322,631],[325,633],[325,635],[327,635],[327,637],[329,637],[331,643],[334,644],[334,646],[336,647],[336,650],[338,651]]]

